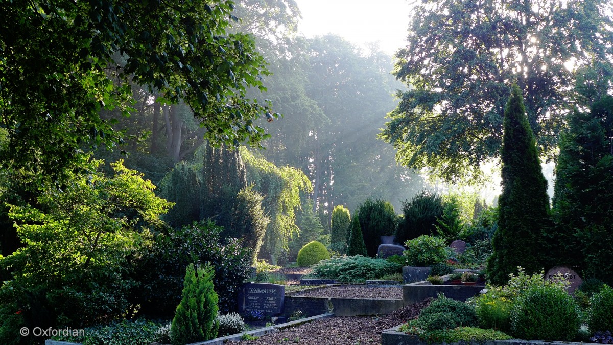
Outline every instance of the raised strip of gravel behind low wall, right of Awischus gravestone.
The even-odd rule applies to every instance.
[[[402,300],[402,285],[398,287],[367,287],[367,286],[330,286],[322,289],[301,292],[302,297],[327,298],[384,298],[386,300]]]

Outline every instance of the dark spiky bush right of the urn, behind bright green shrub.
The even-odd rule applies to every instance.
[[[424,190],[411,201],[404,201],[402,212],[404,217],[398,223],[396,241],[403,243],[421,235],[433,235],[436,219],[443,215],[443,199]]]

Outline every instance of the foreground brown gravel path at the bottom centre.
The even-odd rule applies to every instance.
[[[331,317],[262,336],[250,344],[355,345],[381,344],[381,331],[419,316],[430,300],[378,317]]]

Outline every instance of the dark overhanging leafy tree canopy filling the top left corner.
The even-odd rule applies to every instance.
[[[118,142],[102,109],[133,109],[132,85],[185,102],[212,142],[256,145],[254,124],[276,115],[246,97],[265,90],[265,62],[246,34],[230,34],[230,0],[18,1],[0,5],[2,164],[57,178],[82,147]]]

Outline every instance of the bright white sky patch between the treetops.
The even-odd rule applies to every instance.
[[[390,55],[404,46],[411,6],[407,0],[295,0],[302,12],[299,31],[307,37],[327,33],[360,47],[379,42]]]

